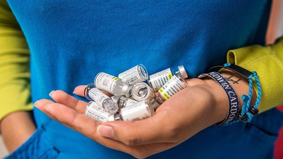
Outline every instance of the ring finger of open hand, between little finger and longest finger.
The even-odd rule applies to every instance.
[[[87,105],[86,102],[78,100],[77,98],[70,96],[64,91],[61,90],[51,91],[49,96],[57,103],[66,105],[81,114],[83,114],[84,110],[86,109],[86,105]]]

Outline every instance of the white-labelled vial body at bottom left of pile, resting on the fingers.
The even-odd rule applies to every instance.
[[[107,110],[100,107],[94,101],[90,101],[86,106],[84,115],[89,116],[90,118],[93,118],[101,123],[105,123],[108,121],[108,116],[111,115],[111,113],[107,112]]]

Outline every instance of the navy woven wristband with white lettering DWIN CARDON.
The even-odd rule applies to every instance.
[[[228,101],[229,101],[229,110],[225,120],[216,123],[215,125],[221,126],[223,124],[229,124],[237,120],[238,112],[239,112],[239,98],[234,90],[234,88],[230,85],[230,83],[218,72],[210,72],[207,74],[201,74],[198,78],[203,78],[205,76],[210,76],[213,78],[226,92]]]

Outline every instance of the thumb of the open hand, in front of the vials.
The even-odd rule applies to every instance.
[[[150,118],[135,122],[113,121],[103,123],[97,127],[97,133],[129,146],[172,142],[168,136],[166,125],[162,124],[166,122],[166,114],[163,111]]]

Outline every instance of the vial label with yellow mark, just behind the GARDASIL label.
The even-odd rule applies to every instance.
[[[157,72],[149,76],[151,85],[155,91],[158,91],[166,82],[172,78],[172,72],[170,68]]]

